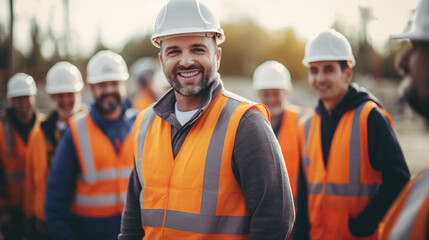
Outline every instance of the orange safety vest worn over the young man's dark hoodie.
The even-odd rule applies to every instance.
[[[376,103],[367,101],[344,113],[332,138],[326,168],[320,115],[314,114],[300,122],[311,239],[375,239],[377,236],[376,232],[368,238],[357,238],[348,228],[349,218],[362,212],[382,182],[381,173],[372,168],[368,156],[367,121],[376,107]],[[392,122],[390,115],[384,114]]]

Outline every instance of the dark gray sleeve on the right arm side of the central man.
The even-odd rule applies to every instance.
[[[271,125],[258,110],[240,121],[232,168],[251,215],[249,239],[285,239],[295,220],[289,178]]]

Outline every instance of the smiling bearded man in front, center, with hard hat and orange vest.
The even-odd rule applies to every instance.
[[[267,109],[223,88],[225,36],[197,0],[171,0],[152,43],[172,86],[141,112],[119,239],[285,239],[295,217]]]

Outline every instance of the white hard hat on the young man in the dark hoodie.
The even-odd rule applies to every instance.
[[[311,62],[320,61],[348,61],[350,67],[356,63],[349,41],[332,29],[320,33],[305,46],[302,63],[308,66]]]

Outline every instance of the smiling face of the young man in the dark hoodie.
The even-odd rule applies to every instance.
[[[308,80],[314,93],[327,110],[332,110],[348,91],[353,69],[341,70],[338,61],[312,62],[308,68]]]

